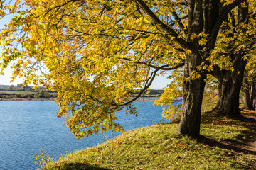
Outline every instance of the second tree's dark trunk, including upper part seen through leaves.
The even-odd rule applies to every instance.
[[[246,6],[238,6],[238,29],[242,29],[239,28],[239,26],[246,22],[247,16],[248,4]],[[235,21],[235,18],[233,18],[233,21]],[[233,25],[236,24],[233,23]],[[243,29],[243,31],[246,30]],[[233,30],[233,34],[234,33],[235,30]],[[233,34],[230,36],[232,37]],[[218,103],[214,110],[219,111],[223,115],[230,115],[233,117],[242,116],[239,110],[239,96],[245,72],[245,65],[247,64],[247,60],[244,60],[242,57],[242,52],[230,55],[233,62],[233,72],[230,70],[216,69],[216,72],[214,73],[219,82]]]

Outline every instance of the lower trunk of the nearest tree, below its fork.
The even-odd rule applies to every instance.
[[[189,56],[185,59],[184,80],[183,80],[183,101],[181,122],[178,125],[178,133],[197,137],[200,132],[201,105],[205,87],[205,75],[191,79],[191,74],[196,66],[201,64],[201,57]]]

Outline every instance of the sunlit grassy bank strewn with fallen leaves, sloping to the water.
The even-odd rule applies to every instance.
[[[203,113],[199,140],[177,135],[178,123],[156,124],[67,154],[43,169],[255,169],[255,152],[245,143],[255,141],[253,125],[254,120]]]

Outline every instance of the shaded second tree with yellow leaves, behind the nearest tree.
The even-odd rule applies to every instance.
[[[220,29],[223,33],[218,46],[223,52],[219,56],[230,60],[231,67],[222,69],[216,66],[211,73],[219,81],[219,97],[215,110],[223,115],[240,116],[239,96],[245,65],[255,50],[255,21],[251,17],[255,15],[253,10],[253,6],[250,6],[249,13],[248,4],[239,5],[230,11],[223,28]]]

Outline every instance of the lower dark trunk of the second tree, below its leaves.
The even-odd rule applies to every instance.
[[[233,117],[241,116],[239,111],[239,94],[242,86],[246,61],[236,56],[233,62],[234,71],[223,71],[219,81],[218,103],[215,111]]]

